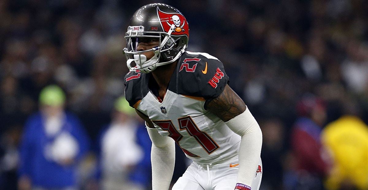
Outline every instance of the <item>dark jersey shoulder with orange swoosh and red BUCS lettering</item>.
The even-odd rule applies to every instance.
[[[222,62],[208,53],[185,52],[178,64],[177,94],[211,99],[229,82]]]

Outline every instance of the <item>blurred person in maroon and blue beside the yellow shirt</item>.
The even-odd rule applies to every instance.
[[[297,104],[298,119],[291,131],[291,153],[295,168],[285,178],[287,189],[323,189],[330,170],[321,131],[326,121],[326,107],[312,94],[304,95]],[[294,179],[294,180],[293,180]]]

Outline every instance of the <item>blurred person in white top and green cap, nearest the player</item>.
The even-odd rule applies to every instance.
[[[104,190],[144,189],[144,184],[135,183],[130,178],[135,170],[143,169],[143,174],[147,169],[137,168],[144,152],[137,144],[137,130],[141,126],[134,114],[134,109],[129,106],[125,97],[118,98],[112,121],[101,133],[98,177]]]

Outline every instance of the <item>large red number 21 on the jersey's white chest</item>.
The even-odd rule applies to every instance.
[[[169,137],[173,138],[174,141],[180,146],[180,140],[183,136],[175,129],[171,120],[160,120],[160,121],[152,121],[161,127],[162,130],[169,132]],[[178,119],[179,129],[186,130],[190,136],[194,137],[195,140],[202,146],[202,148],[208,153],[211,154],[219,145],[205,132],[198,129],[197,125],[194,123],[190,116],[181,117]],[[181,146],[180,146],[181,148]],[[192,157],[198,157],[198,155],[192,154],[184,148],[181,148],[183,152]]]

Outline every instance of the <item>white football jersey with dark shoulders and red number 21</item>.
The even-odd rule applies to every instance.
[[[197,163],[216,163],[237,156],[241,137],[204,108],[205,101],[220,95],[229,81],[218,59],[205,53],[185,52],[162,101],[150,77],[150,73],[128,73],[125,97],[151,119],[162,136],[173,138]]]

